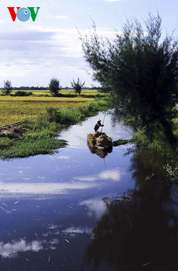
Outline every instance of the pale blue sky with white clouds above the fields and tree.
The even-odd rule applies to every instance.
[[[35,21],[13,21],[7,7],[40,9]],[[88,34],[93,20],[101,36],[112,38],[127,18],[143,22],[157,9],[163,33],[178,36],[177,0],[1,0],[0,87],[6,79],[13,86],[48,86],[52,77],[63,87],[78,77],[87,87],[98,86],[88,74],[77,28]]]

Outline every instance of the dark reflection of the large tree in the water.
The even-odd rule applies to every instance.
[[[127,194],[137,200],[103,199],[107,211],[93,230],[84,270],[178,269],[177,197],[173,187],[145,180],[155,170],[151,162],[143,163],[145,159],[135,153],[132,161],[136,183]]]

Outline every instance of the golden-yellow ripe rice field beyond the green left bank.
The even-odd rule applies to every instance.
[[[41,92],[40,92],[41,93]],[[21,122],[43,114],[47,107],[78,107],[94,98],[0,96],[0,126]]]

